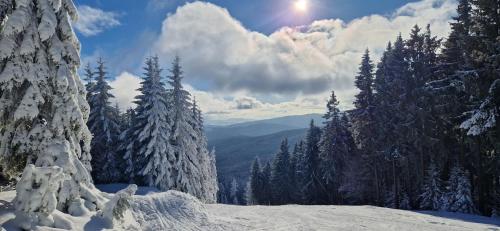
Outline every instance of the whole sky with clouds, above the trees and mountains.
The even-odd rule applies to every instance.
[[[307,10],[294,9],[306,1]],[[455,0],[76,0],[83,62],[102,56],[122,107],[141,66],[179,54],[210,122],[321,113],[335,90],[352,107],[362,52],[378,59],[414,24],[444,37]]]

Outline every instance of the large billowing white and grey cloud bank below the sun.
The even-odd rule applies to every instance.
[[[165,69],[174,55],[181,56],[186,89],[209,121],[322,113],[331,90],[343,109],[352,107],[354,76],[366,48],[376,62],[388,41],[400,32],[405,37],[415,24],[430,23],[434,35],[444,37],[455,8],[454,0],[422,0],[391,16],[318,20],[264,35],[246,29],[226,9],[194,2],[165,19],[151,52]]]

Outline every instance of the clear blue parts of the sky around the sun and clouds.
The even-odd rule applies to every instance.
[[[414,0],[413,0],[414,1]],[[140,67],[140,59],[134,55],[147,50],[148,42],[160,33],[161,24],[168,14],[186,4],[185,0],[77,0],[78,6],[87,5],[106,12],[114,12],[120,25],[96,36],[83,36],[82,55],[91,56],[99,52],[113,59],[111,71],[135,71]],[[318,19],[340,18],[350,21],[370,14],[387,15],[394,9],[412,2],[410,0],[314,0],[310,12],[298,17],[279,17],[289,14],[293,0],[212,0],[207,1],[229,10],[231,15],[246,28],[270,34],[284,26],[306,25]],[[132,51],[132,52],[131,52]],[[114,59],[112,57],[122,57]],[[124,58],[126,57],[126,58]],[[132,59],[132,60],[131,60]]]

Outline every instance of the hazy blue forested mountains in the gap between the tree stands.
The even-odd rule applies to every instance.
[[[286,116],[238,123],[228,126],[207,126],[209,148],[215,148],[220,179],[235,177],[240,183],[248,179],[256,156],[265,163],[272,159],[281,141],[288,138],[290,149],[305,137],[311,120],[320,125],[320,114]]]

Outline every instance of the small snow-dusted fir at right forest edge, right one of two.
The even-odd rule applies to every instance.
[[[450,176],[450,191],[448,192],[451,212],[475,213],[472,200],[472,186],[468,174],[458,166],[454,166]]]

